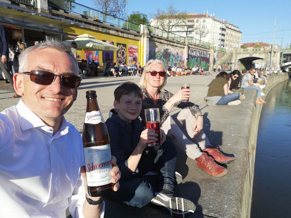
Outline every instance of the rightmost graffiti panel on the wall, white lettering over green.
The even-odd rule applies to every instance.
[[[209,69],[210,52],[199,49],[191,49],[188,51],[188,67],[203,67]]]

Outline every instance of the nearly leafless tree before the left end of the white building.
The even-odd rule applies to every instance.
[[[173,32],[175,27],[183,24],[183,21],[186,19],[186,13],[179,13],[172,2],[166,8],[166,11],[157,8],[156,13],[154,14],[154,19],[155,22],[153,22],[153,25],[155,27],[161,28],[167,32]]]

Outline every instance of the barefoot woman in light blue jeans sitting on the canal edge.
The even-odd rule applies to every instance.
[[[255,103],[257,104],[262,104],[262,103],[267,103],[266,101],[264,101],[261,97],[261,93],[262,93],[262,89],[256,85],[254,85],[253,83],[253,75],[256,72],[255,68],[251,68],[249,70],[249,73],[245,74],[242,78],[242,83],[240,85],[241,88],[244,89],[255,89],[257,90],[257,98]]]

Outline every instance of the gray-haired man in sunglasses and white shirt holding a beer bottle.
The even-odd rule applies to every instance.
[[[56,41],[20,54],[14,87],[22,99],[0,113],[1,217],[65,217],[66,208],[72,217],[99,217],[104,211],[100,197],[86,200],[82,139],[63,116],[77,98],[77,69],[71,48]],[[116,191],[117,166],[111,175]]]

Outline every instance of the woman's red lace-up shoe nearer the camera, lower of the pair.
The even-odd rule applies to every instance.
[[[227,173],[227,169],[215,163],[214,158],[208,156],[206,152],[202,152],[195,160],[197,161],[197,166],[211,176],[221,177]]]

